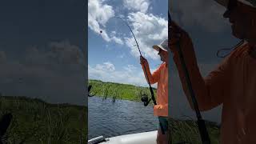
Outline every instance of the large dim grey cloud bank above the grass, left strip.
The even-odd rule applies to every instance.
[[[40,48],[29,47],[21,55],[10,55],[8,62],[0,65],[0,92],[53,103],[86,104],[86,58],[78,46],[67,40],[50,42]]]

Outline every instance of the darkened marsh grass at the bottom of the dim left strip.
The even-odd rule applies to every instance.
[[[0,116],[11,113],[6,143],[86,143],[87,107],[37,98],[0,97]],[[0,117],[1,118],[1,117]]]

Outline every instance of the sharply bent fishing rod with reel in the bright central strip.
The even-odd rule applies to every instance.
[[[112,17],[112,18],[118,18],[118,19],[122,20],[122,22],[124,22],[124,23],[126,24],[126,26],[128,26],[128,28],[129,28],[131,34],[133,34],[134,40],[135,40],[135,42],[136,42],[136,46],[138,47],[139,54],[140,54],[140,56],[142,57],[142,53],[141,53],[141,50],[139,49],[137,39],[135,38],[134,32],[133,32],[133,30],[131,30],[131,28],[130,28],[130,26],[128,25],[128,23],[127,23],[125,20],[123,20],[122,18],[120,18],[120,17],[114,16],[114,17]],[[100,31],[100,33],[102,33],[102,30]],[[152,87],[151,87],[151,85],[150,85],[150,79],[149,79],[149,77],[148,77],[148,75],[147,75],[146,66],[143,65],[143,68],[144,68],[144,70],[145,70],[145,72],[146,72],[147,83],[148,83],[149,86],[150,86],[151,99],[152,99],[152,101],[154,102],[154,105],[157,105],[157,102],[155,101],[155,98],[154,98],[154,91],[153,91],[153,89],[152,89]],[[147,106],[147,105],[149,104],[150,100],[148,100],[148,98],[145,98],[145,97],[144,97],[144,98],[142,98],[142,102],[144,102],[144,106]],[[160,119],[159,119],[159,118],[158,118],[158,120],[159,120],[159,124],[160,124],[160,128],[161,128],[162,134],[165,134],[165,131],[163,130],[162,123],[160,122]]]

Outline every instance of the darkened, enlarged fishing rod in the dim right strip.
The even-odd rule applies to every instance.
[[[170,11],[169,10],[168,10],[168,19],[169,19],[168,22],[171,22]],[[186,82],[187,82],[186,85],[187,85],[187,87],[190,91],[190,97],[192,99],[194,110],[195,110],[197,118],[198,118],[198,121],[197,121],[198,122],[198,130],[199,130],[199,133],[200,133],[200,136],[201,136],[202,144],[210,144],[210,138],[209,138],[209,134],[208,134],[207,129],[206,129],[206,123],[202,119],[202,115],[201,115],[200,110],[198,108],[198,101],[195,97],[194,90],[192,88],[192,83],[190,81],[190,75],[189,75],[189,72],[187,70],[186,62],[184,60],[184,56],[182,54],[182,49],[181,49],[181,46],[180,46],[179,42],[177,42],[177,46],[178,46],[178,55],[179,55],[180,61],[182,63],[182,70],[183,70],[183,73],[185,74],[185,77],[186,77]]]

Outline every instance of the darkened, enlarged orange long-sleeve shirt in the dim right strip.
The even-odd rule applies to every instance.
[[[185,47],[186,46],[186,47]],[[190,80],[200,110],[222,106],[222,144],[256,143],[256,59],[250,57],[251,47],[244,43],[226,57],[206,78],[202,78],[194,55],[187,42],[183,51]],[[186,78],[174,52],[183,90],[190,98]]]

